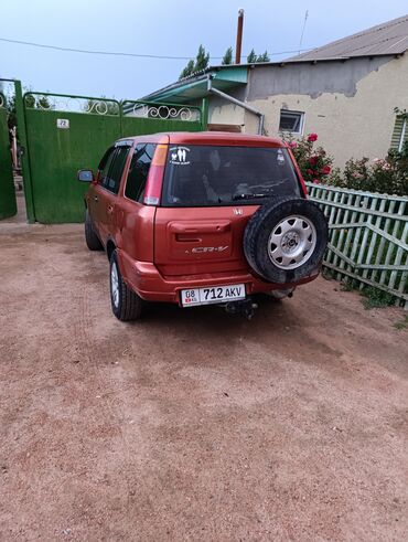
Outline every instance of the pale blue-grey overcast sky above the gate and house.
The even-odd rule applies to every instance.
[[[245,56],[315,47],[408,12],[407,0],[0,0],[0,38],[63,47],[195,56],[211,63],[235,45],[245,9]],[[281,60],[290,54],[271,55]],[[138,98],[178,79],[184,60],[101,56],[49,51],[0,41],[0,77],[39,92]]]

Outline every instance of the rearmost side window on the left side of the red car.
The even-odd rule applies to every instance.
[[[154,149],[155,145],[153,144],[139,144],[135,148],[125,189],[125,195],[130,200],[143,200]]]

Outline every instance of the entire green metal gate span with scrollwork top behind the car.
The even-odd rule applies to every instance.
[[[82,222],[87,187],[76,172],[95,170],[119,137],[203,129],[197,107],[47,93],[26,93],[23,102],[30,222]]]

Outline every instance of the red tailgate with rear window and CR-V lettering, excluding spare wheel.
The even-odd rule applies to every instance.
[[[167,276],[247,270],[245,226],[276,195],[300,195],[286,149],[170,145],[154,263]]]

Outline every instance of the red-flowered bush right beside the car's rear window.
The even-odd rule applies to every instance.
[[[283,136],[283,140],[292,149],[303,179],[310,182],[325,183],[332,171],[333,159],[328,156],[323,147],[314,148],[318,134],[309,134],[309,136],[298,140]]]

